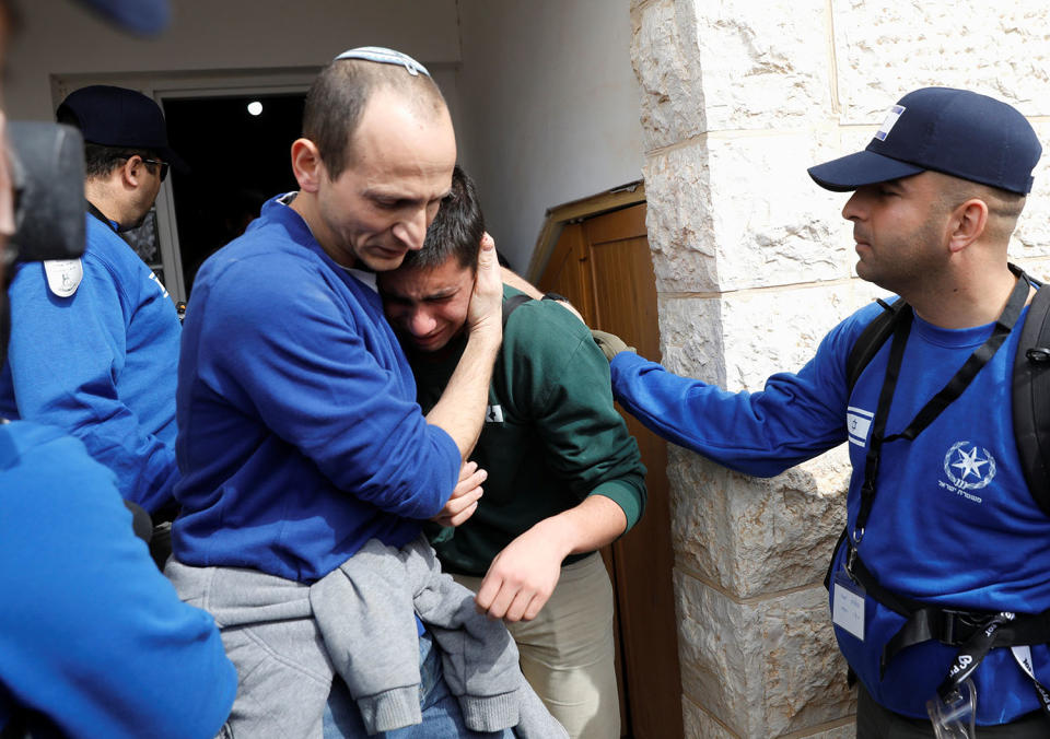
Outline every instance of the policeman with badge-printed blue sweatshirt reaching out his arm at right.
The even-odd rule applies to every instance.
[[[861,739],[1050,736],[1050,516],[1011,409],[1037,283],[1006,260],[1040,153],[1010,105],[926,87],[864,151],[810,168],[852,192],[858,274],[905,302],[856,312],[761,392],[677,377],[598,337],[623,407],[726,467],[773,476],[849,441],[828,585]],[[879,341],[873,325],[888,327]]]

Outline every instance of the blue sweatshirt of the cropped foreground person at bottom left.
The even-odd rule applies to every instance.
[[[79,441],[0,425],[0,728],[211,739],[237,676],[212,618],[179,601],[131,532],[113,472]]]

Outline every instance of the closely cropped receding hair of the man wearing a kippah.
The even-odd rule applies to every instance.
[[[336,59],[310,85],[303,109],[303,138],[317,144],[328,177],[336,179],[353,163],[350,139],[372,94],[380,89],[402,93],[420,112],[446,108],[428,74],[409,74],[400,64],[364,59]]]

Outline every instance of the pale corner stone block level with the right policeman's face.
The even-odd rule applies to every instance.
[[[840,153],[837,131],[702,137],[646,157],[648,228],[660,292],[725,292],[849,277],[847,197],[806,168]]]

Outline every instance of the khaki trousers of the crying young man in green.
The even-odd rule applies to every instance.
[[[475,593],[480,577],[453,575]],[[506,622],[522,672],[573,739],[618,739],[612,584],[602,556],[561,568],[558,586],[532,621]]]

